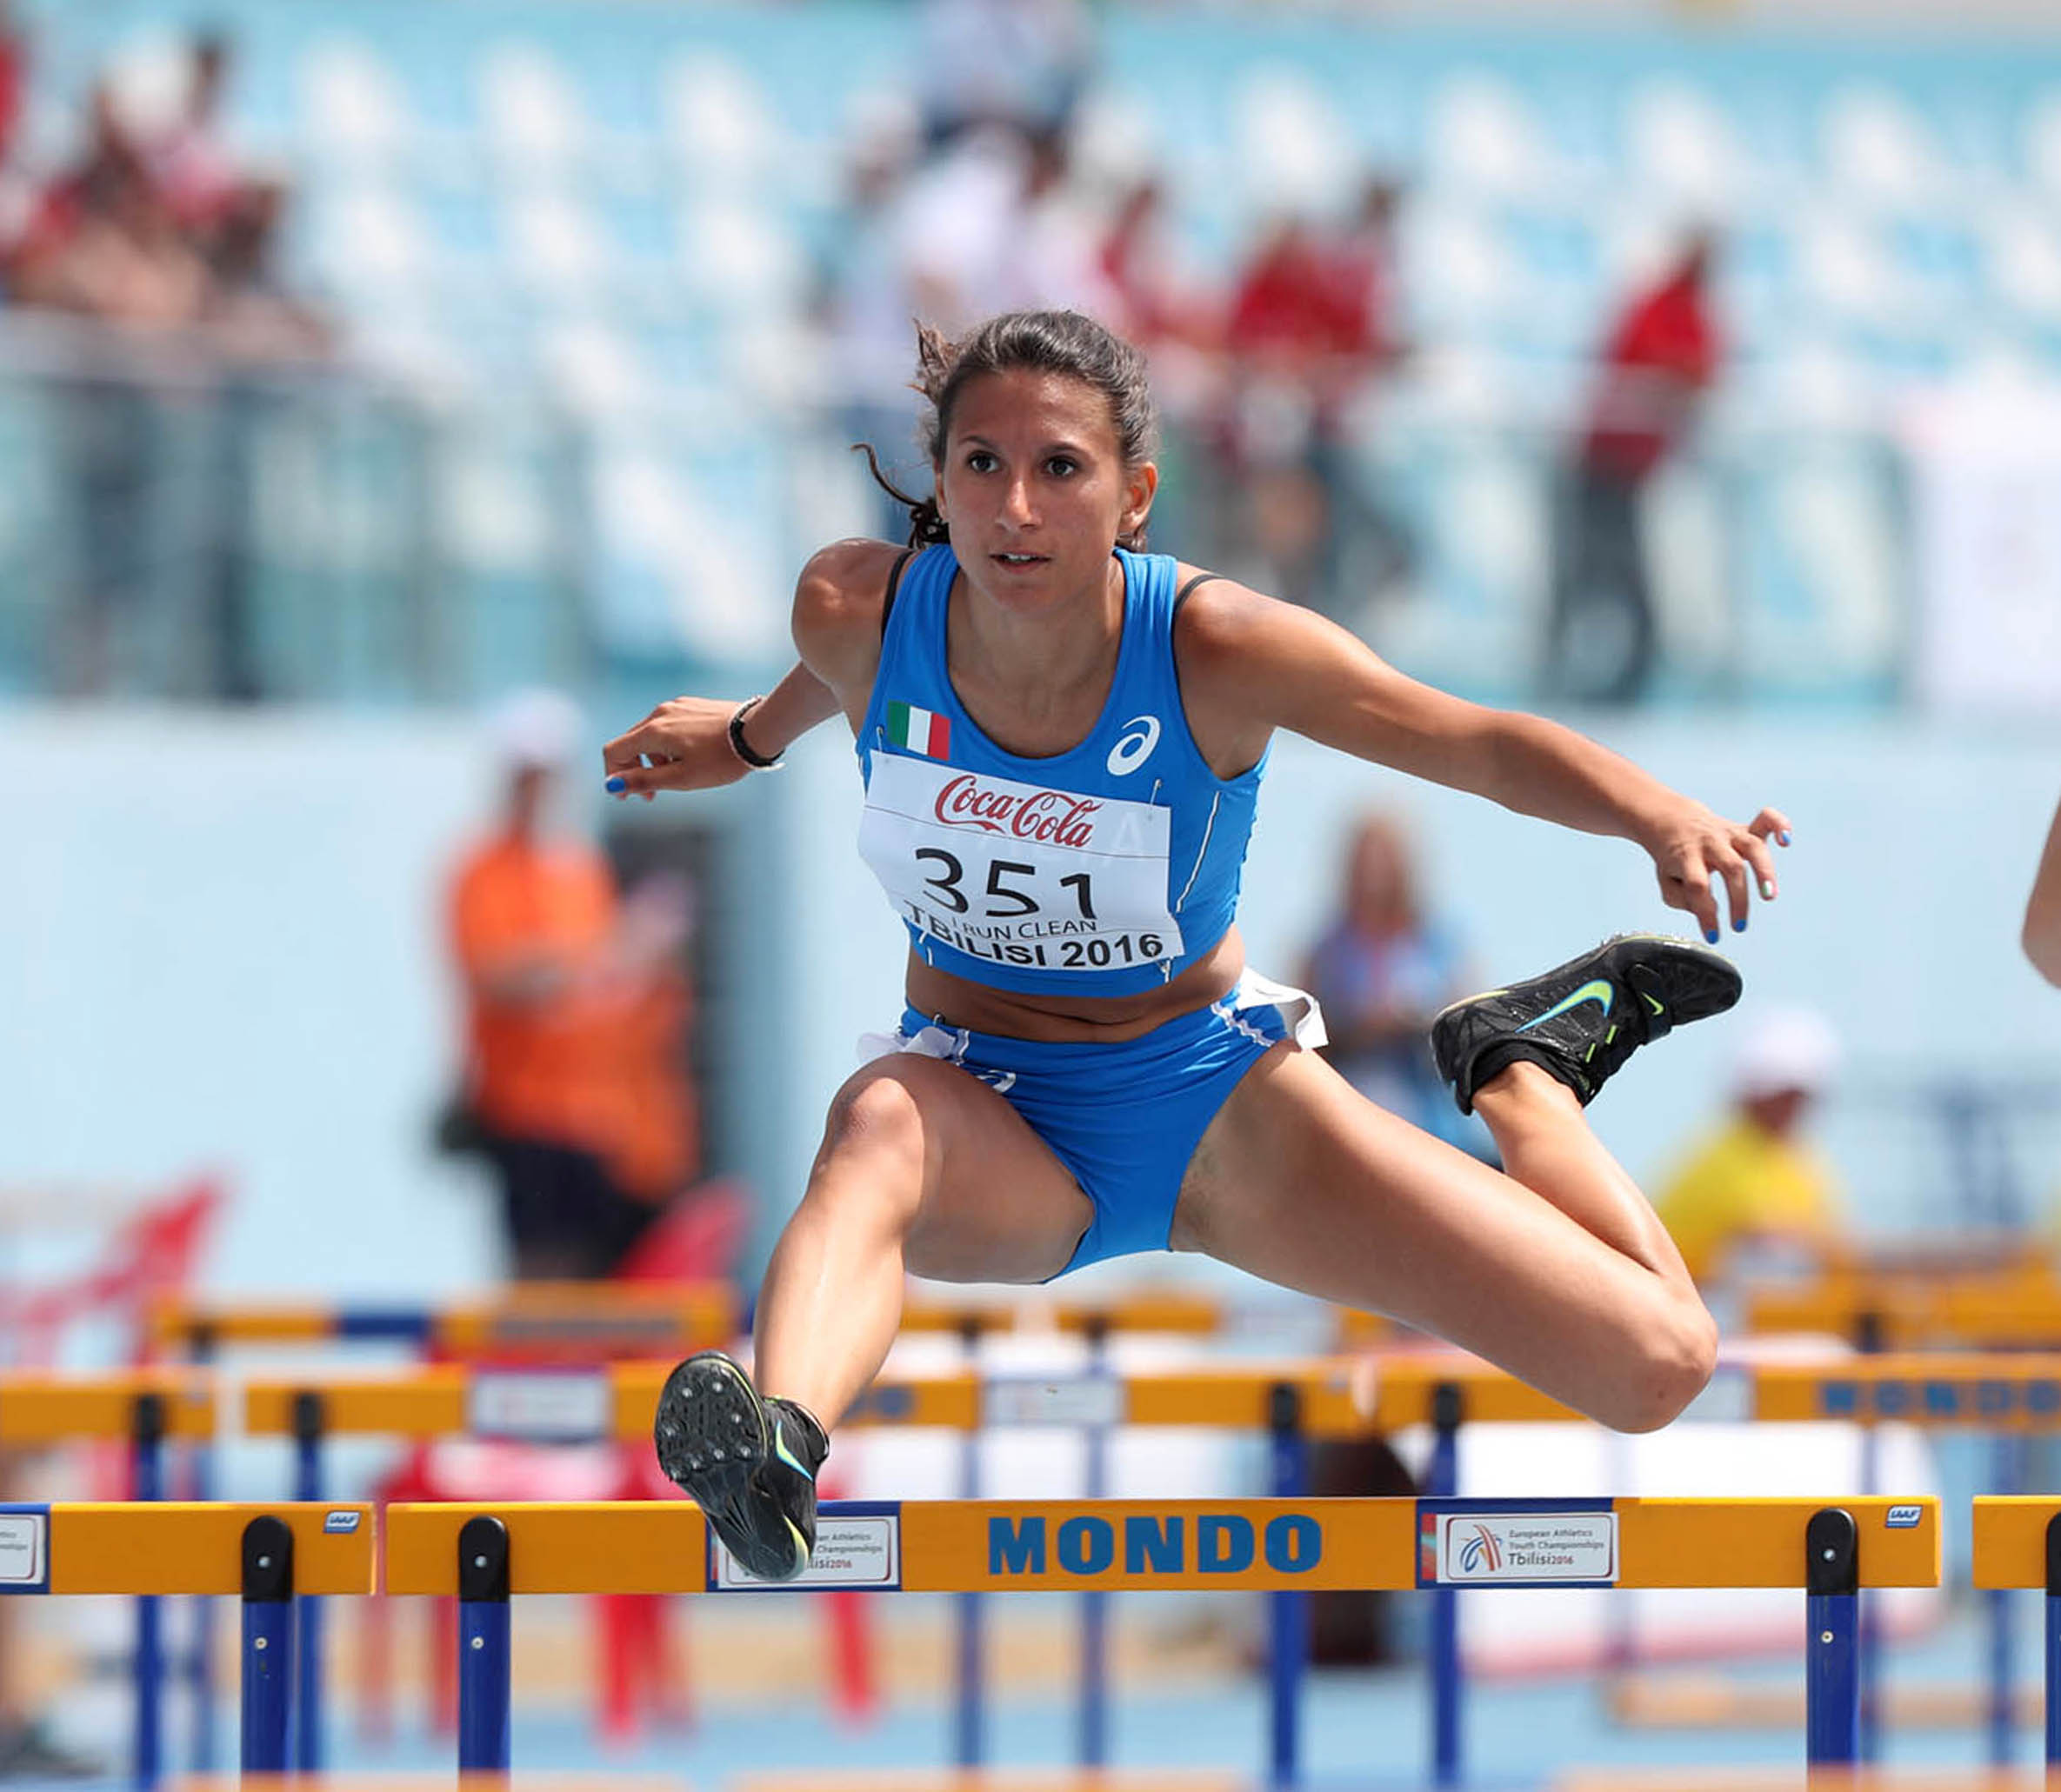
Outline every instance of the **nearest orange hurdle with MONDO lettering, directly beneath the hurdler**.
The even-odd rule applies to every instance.
[[[1859,1745],[1863,1586],[1937,1586],[1937,1500],[831,1502],[798,1582],[754,1582],[686,1504],[394,1506],[387,1590],[460,1603],[460,1771],[509,1771],[511,1598],[530,1592],[1791,1586],[1805,1745]],[[1276,1773],[1294,1784],[1296,1773]]]

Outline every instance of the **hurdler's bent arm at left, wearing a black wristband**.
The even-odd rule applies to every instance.
[[[779,758],[841,709],[864,715],[880,661],[880,599],[897,550],[886,542],[837,542],[802,568],[793,589],[793,645],[800,661],[744,719],[744,744]],[[730,746],[734,700],[676,696],[602,748],[616,795],[734,785],[750,766]]]

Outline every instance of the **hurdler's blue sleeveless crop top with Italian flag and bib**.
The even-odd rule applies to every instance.
[[[1134,995],[1230,927],[1265,758],[1237,779],[1210,770],[1175,678],[1175,562],[1117,560],[1109,700],[1049,758],[998,748],[952,690],[952,550],[903,566],[857,737],[859,855],[925,964],[1026,995]]]

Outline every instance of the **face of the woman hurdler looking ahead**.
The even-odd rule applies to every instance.
[[[938,509],[967,577],[1004,601],[1068,597],[1107,577],[1144,525],[1158,470],[1123,466],[1109,400],[1066,373],[983,373],[952,404]]]

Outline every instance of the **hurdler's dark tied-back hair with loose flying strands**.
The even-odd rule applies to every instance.
[[[1080,311],[1006,311],[989,317],[971,336],[948,342],[927,323],[915,328],[915,379],[911,387],[930,400],[923,447],[932,468],[944,466],[944,443],[952,433],[952,406],[967,383],[983,373],[1063,373],[1092,385],[1109,400],[1109,422],[1117,430],[1117,451],[1125,470],[1152,459],[1158,447],[1158,416],[1146,358],[1113,330]],[[950,529],[938,515],[938,498],[913,498],[882,470],[872,443],[857,443],[880,488],[897,505],[909,507],[909,546],[948,542]],[[1119,548],[1144,552],[1144,525],[1117,538]]]

